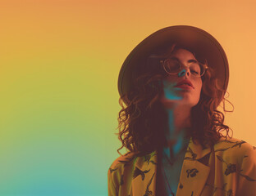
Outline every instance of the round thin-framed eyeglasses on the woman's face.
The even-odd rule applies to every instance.
[[[163,69],[171,75],[181,73],[182,65],[179,60],[166,59],[160,60],[160,63],[162,64]],[[205,71],[208,69],[207,65],[201,64],[197,60],[190,60],[189,65],[186,67],[190,69],[191,76],[194,78],[202,77]]]

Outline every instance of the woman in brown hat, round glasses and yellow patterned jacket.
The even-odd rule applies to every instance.
[[[256,195],[256,149],[228,136],[217,110],[228,77],[225,52],[202,29],[171,26],[140,42],[118,78],[129,152],[109,168],[108,194]]]

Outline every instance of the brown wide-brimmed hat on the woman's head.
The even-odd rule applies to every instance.
[[[161,50],[161,48],[171,46],[173,43],[193,51],[197,58],[207,60],[208,66],[214,70],[214,77],[217,78],[219,87],[226,92],[229,67],[226,53],[221,44],[203,29],[189,25],[176,25],[150,34],[142,42],[139,42],[126,57],[118,77],[120,96],[134,89],[133,78],[136,76],[141,62],[153,51]],[[129,101],[125,100],[126,104]]]

